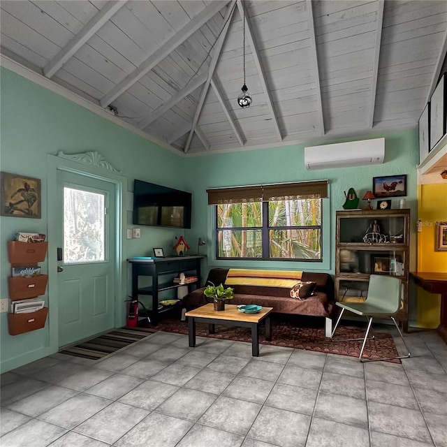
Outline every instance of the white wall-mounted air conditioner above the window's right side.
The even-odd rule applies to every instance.
[[[385,157],[385,138],[305,147],[306,169],[379,165]]]

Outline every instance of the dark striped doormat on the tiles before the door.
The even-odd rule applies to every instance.
[[[143,338],[149,337],[156,329],[152,328],[121,328],[106,332],[99,337],[94,337],[75,346],[64,348],[59,351],[68,356],[90,358],[99,360],[110,353],[129,346],[129,344],[138,342]]]

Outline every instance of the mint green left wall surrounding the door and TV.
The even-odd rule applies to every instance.
[[[0,75],[0,170],[29,175],[42,181],[41,219],[0,218],[0,298],[8,298],[10,266],[6,242],[19,230],[47,234],[48,221],[54,218],[47,216],[46,154],[56,155],[59,150],[68,154],[97,151],[114,168],[122,171],[127,178],[128,191],[133,189],[134,178],[180,189],[185,189],[186,179],[181,156],[4,68],[1,68]],[[129,228],[133,227],[130,211],[127,212],[127,220]],[[123,241],[124,256],[152,254],[152,247],[165,247],[169,252],[173,237],[178,234],[179,230],[142,226],[140,239]],[[47,234],[47,237],[51,240],[52,235]],[[41,265],[46,273],[47,259]],[[47,295],[45,299],[48,299]],[[57,297],[52,302],[57,302]],[[2,370],[50,353],[49,327],[52,324],[53,321],[48,321],[43,330],[11,337],[6,314],[0,314]]]

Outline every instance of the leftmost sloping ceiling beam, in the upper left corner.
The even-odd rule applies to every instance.
[[[43,68],[43,74],[47,78],[51,78],[65,63],[70,59],[75,52],[78,52],[80,47],[84,45],[91,36],[93,36],[108,20],[112,18],[117,11],[124,6],[127,0],[123,1],[109,1],[101,10],[91,17],[89,22],[82,30],[76,34],[70,42],[62,48],[56,56],[48,62]]]

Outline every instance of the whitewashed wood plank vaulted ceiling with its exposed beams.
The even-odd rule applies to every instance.
[[[446,0],[0,7],[3,57],[189,154],[416,127],[446,57]]]

